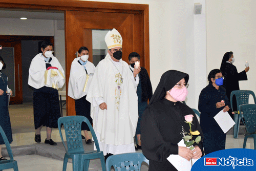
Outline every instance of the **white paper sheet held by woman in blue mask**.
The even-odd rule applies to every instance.
[[[226,134],[228,132],[228,130],[230,130],[231,127],[235,124],[233,119],[229,116],[228,112],[223,112],[223,110],[220,111],[214,117],[214,119],[219,124],[219,126],[221,127],[224,134]]]

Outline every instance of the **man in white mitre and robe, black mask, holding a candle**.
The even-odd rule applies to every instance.
[[[138,121],[135,89],[140,67],[132,73],[121,59],[122,37],[116,29],[106,34],[105,42],[108,54],[95,69],[87,100],[91,102],[93,128],[106,160],[111,155],[135,152]]]

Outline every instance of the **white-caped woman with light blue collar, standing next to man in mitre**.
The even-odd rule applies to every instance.
[[[87,117],[92,124],[93,119],[90,116],[91,104],[86,100],[86,96],[93,78],[95,66],[88,60],[89,50],[87,47],[81,47],[78,50],[78,55],[79,58],[73,60],[70,69],[68,96],[75,99],[76,115]],[[82,136],[82,138],[86,139],[87,144],[91,144],[92,140],[88,134],[88,131],[90,131],[88,125],[83,122],[81,130],[85,136]]]

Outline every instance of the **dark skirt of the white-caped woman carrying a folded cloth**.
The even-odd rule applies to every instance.
[[[58,92],[34,92],[33,106],[35,129],[41,125],[54,128],[58,127],[58,118],[60,117]]]

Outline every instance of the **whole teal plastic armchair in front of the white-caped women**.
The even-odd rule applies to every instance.
[[[81,124],[86,122],[93,136],[96,151],[84,152],[81,138]],[[67,146],[65,145],[61,133],[61,124],[63,124],[66,134]],[[66,149],[63,161],[63,171],[67,169],[68,159],[72,159],[73,171],[88,170],[90,159],[100,159],[102,170],[106,170],[103,152],[99,149],[99,143],[90,121],[84,116],[66,116],[58,119],[58,129],[62,143]]]

